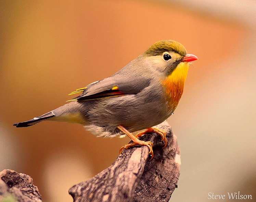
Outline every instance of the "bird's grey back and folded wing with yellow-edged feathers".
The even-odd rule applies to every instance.
[[[147,60],[139,56],[113,76],[72,92],[71,95],[77,92],[82,92],[82,94],[69,101],[94,100],[128,94],[136,95],[148,87],[152,79],[156,77],[154,69],[151,68],[151,63],[148,63]]]

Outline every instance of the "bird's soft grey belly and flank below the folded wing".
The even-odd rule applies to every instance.
[[[168,118],[168,110],[161,95],[149,100],[134,95],[110,99],[111,102],[105,99],[93,105],[88,116],[87,130],[93,132],[94,127],[97,128],[94,134],[112,136],[120,132],[116,129],[118,125],[135,132],[158,125]],[[106,131],[111,133],[106,135]]]

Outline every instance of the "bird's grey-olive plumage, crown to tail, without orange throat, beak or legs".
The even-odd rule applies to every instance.
[[[165,52],[171,55],[170,61],[163,59]],[[27,127],[44,119],[78,122],[95,135],[113,137],[123,135],[118,125],[135,132],[160,124],[176,108],[170,107],[161,82],[174,71],[185,54],[185,48],[178,42],[156,42],[114,75],[89,84],[75,101],[14,125]],[[113,87],[118,90],[112,90]]]

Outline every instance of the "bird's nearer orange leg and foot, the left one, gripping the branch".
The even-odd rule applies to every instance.
[[[136,136],[134,136],[132,133],[130,133],[128,130],[125,129],[125,127],[123,126],[117,126],[117,128],[124,132],[131,140],[133,143],[130,143],[130,144],[126,144],[124,146],[122,146],[119,150],[119,153],[121,154],[121,152],[123,152],[124,149],[128,149],[130,147],[133,147],[135,145],[141,145],[141,146],[147,146],[149,147],[149,154],[151,155],[151,159],[153,158],[154,154],[153,154],[153,143],[150,142],[150,141],[142,141],[142,140],[139,140]]]

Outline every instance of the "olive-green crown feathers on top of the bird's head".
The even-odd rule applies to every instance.
[[[173,40],[157,41],[152,46],[150,46],[144,54],[148,56],[156,56],[162,55],[166,51],[173,51],[180,54],[181,56],[185,56],[187,54],[185,47],[181,43]]]

